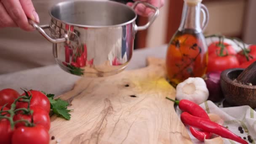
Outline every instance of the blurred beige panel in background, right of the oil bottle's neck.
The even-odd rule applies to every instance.
[[[205,3],[209,10],[209,24],[205,34],[221,33],[237,36],[242,34],[245,0],[224,0]]]

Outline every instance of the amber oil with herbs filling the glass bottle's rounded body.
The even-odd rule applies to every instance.
[[[168,45],[167,75],[176,86],[188,77],[203,77],[208,63],[208,49],[202,33],[193,29],[177,31]]]

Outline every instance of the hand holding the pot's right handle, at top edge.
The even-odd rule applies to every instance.
[[[138,0],[134,0],[134,1],[138,1]],[[165,0],[140,0],[140,1],[154,5],[157,8],[163,7],[164,2],[165,2]],[[132,6],[133,3],[129,2],[129,3],[127,3],[127,5]],[[135,11],[137,14],[139,14],[141,16],[151,16],[153,13],[155,13],[155,11],[152,10],[152,8],[148,8],[147,6],[143,5],[142,3],[139,3],[136,6]]]

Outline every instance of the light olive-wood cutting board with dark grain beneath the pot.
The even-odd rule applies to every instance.
[[[110,77],[81,78],[61,96],[71,120],[51,117],[51,144],[190,144],[173,107],[175,89],[165,80],[163,59]]]

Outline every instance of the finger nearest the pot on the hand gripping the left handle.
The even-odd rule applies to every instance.
[[[35,11],[34,5],[31,0],[20,0],[21,7],[26,14],[26,16],[31,19],[32,21],[35,21],[39,23],[39,16],[37,12]]]

